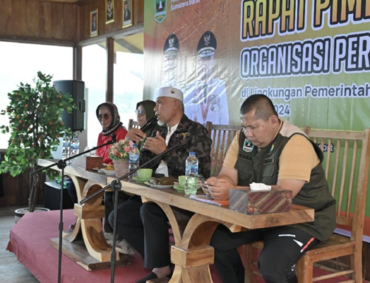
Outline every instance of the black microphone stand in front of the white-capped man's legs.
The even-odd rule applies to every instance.
[[[157,158],[160,158],[164,156],[165,154],[169,153],[169,151],[181,148],[185,144],[186,144],[186,140],[179,141],[178,144],[175,144],[174,146],[171,146],[169,149],[166,149],[165,151],[163,151],[162,154],[158,154],[154,158],[150,159],[150,161],[143,163],[141,166],[138,166],[137,168],[119,177],[118,179],[112,180],[112,183],[110,183],[109,185],[102,187],[100,190],[97,190],[92,195],[89,195],[88,197],[85,197],[85,199],[80,201],[80,204],[84,204],[85,202],[88,202],[89,200],[93,199],[93,197],[96,197],[97,195],[99,195],[101,192],[104,192],[105,190],[109,189],[109,187],[112,187],[112,190],[114,190],[114,222],[113,222],[113,243],[112,243],[112,253],[111,253],[111,278],[110,278],[111,283],[114,283],[114,267],[116,265],[117,207],[118,207],[118,192],[119,190],[121,190],[121,187],[122,187],[121,180],[124,180],[125,178],[129,177],[129,175],[131,175],[132,173],[135,173],[141,168],[144,168],[149,163],[155,161]]]

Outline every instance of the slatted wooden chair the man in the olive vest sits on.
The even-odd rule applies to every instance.
[[[344,282],[362,282],[362,236],[364,231],[364,214],[366,205],[366,190],[369,178],[370,129],[364,132],[315,130],[306,127],[305,132],[318,144],[324,153],[323,168],[326,173],[329,188],[337,200],[337,225],[348,227],[350,238],[333,233],[330,238],[309,250],[297,264],[299,283],[311,283],[323,279],[347,276]],[[253,247],[260,247],[256,243]],[[251,255],[251,246],[246,246],[246,253]],[[247,256],[249,256],[247,255]],[[335,270],[318,265],[316,262],[326,260],[333,262],[335,258],[350,257],[350,265],[346,270]],[[315,266],[332,272],[314,278]],[[339,266],[342,262],[335,261]],[[246,282],[254,282],[253,265],[246,266]],[[249,281],[250,280],[250,281]]]

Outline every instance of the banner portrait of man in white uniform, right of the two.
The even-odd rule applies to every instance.
[[[209,30],[203,33],[197,47],[197,78],[185,91],[186,115],[203,125],[208,121],[217,125],[229,125],[225,82],[215,78],[216,48],[215,35]]]

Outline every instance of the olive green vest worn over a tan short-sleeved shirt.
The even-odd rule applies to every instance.
[[[235,164],[238,171],[238,185],[249,186],[253,182],[276,185],[280,154],[292,136],[283,137],[278,133],[268,146],[258,149],[246,140],[241,132],[239,153]],[[314,146],[320,163],[312,169],[309,183],[306,183],[294,197],[293,204],[314,208],[315,221],[294,226],[320,241],[325,241],[335,229],[335,200],[328,190],[328,182],[321,166],[323,153],[314,142],[311,141],[311,144]]]

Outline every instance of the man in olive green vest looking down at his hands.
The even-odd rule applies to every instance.
[[[293,204],[315,209],[306,224],[231,233],[220,225],[211,239],[215,266],[223,282],[244,282],[244,267],[237,248],[263,241],[258,267],[267,283],[297,282],[299,258],[335,229],[335,200],[321,166],[322,151],[304,132],[279,119],[272,101],[263,95],[247,98],[240,109],[243,129],[232,141],[222,170],[209,178],[205,193],[228,200],[230,188],[264,183],[292,190]]]

